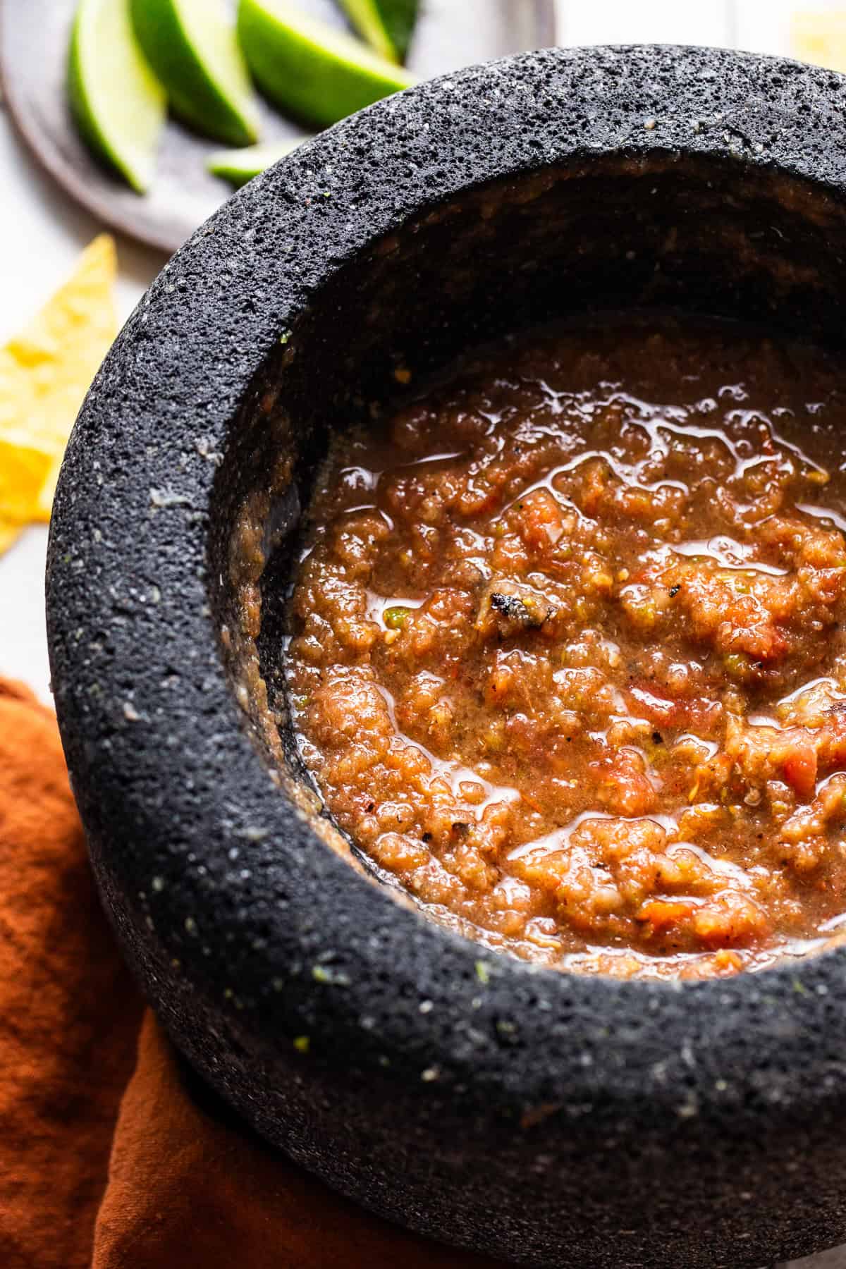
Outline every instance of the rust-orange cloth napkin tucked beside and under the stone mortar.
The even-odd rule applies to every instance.
[[[394,1264],[495,1266],[355,1207],[199,1086],[118,957],[56,721],[0,680],[3,1269]]]

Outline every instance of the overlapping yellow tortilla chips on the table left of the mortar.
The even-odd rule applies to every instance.
[[[15,495],[5,466],[0,470],[0,549],[4,524],[49,519],[74,421],[118,332],[115,277],[114,239],[101,233],[85,249],[65,286],[0,348],[0,464],[22,438],[46,459],[37,495],[20,519],[22,504],[18,500],[16,510],[10,510],[6,500]]]

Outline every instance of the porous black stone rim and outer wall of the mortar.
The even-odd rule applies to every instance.
[[[677,48],[422,84],[190,239],[74,433],[47,579],[56,706],[124,952],[261,1133],[434,1237],[526,1265],[761,1265],[846,1233],[846,950],[710,982],[500,957],[312,832],[245,732],[209,607],[217,456],[313,294],[410,216],[595,155],[733,157],[846,192],[846,80]]]

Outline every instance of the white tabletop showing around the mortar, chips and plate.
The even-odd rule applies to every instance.
[[[515,4],[521,0],[514,0]],[[526,0],[528,3],[528,0]],[[786,53],[789,16],[828,0],[557,0],[559,42],[723,44]],[[0,339],[67,274],[100,226],[42,176],[0,112]],[[126,317],[161,268],[153,251],[119,242],[119,302]],[[43,618],[46,529],[28,529],[0,560],[0,674],[49,699]],[[788,1269],[780,1265],[778,1269]],[[789,1269],[846,1269],[846,1247],[793,1261]]]

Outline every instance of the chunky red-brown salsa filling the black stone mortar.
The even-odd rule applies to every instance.
[[[561,968],[837,938],[843,438],[832,354],[649,316],[504,340],[337,438],[285,669],[340,827]]]

